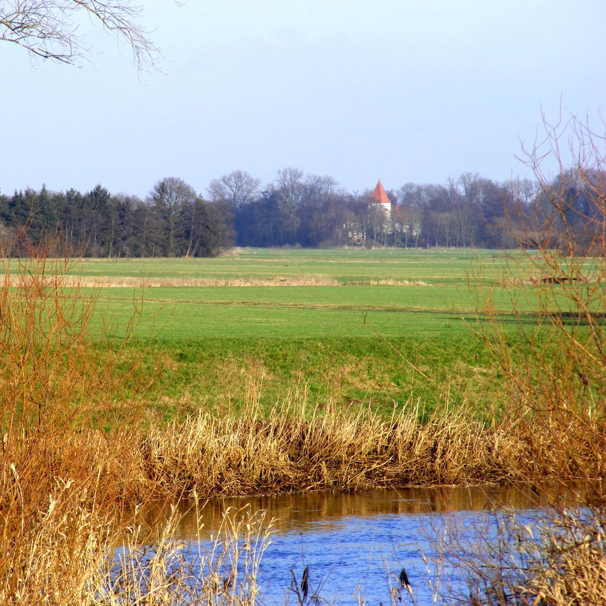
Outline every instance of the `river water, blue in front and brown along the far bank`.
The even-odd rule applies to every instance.
[[[257,496],[208,501],[201,511],[202,530],[195,514],[185,514],[179,537],[191,544],[208,545],[223,512],[247,504],[252,511],[265,510],[267,521],[275,518],[272,544],[264,553],[258,575],[262,602],[267,605],[296,604],[288,591],[291,570],[300,579],[307,566],[310,592],[318,589],[329,603],[390,604],[388,571],[397,577],[404,567],[414,604],[433,604],[438,580],[443,589],[448,584],[465,587],[460,571],[436,568],[423,558],[435,558],[440,542],[451,538],[453,528],[458,529],[458,540],[482,541],[493,533],[498,515],[491,512],[499,507],[514,508],[524,523],[535,521],[541,513],[530,491],[514,487]],[[398,582],[392,578],[394,584]],[[413,604],[406,592],[401,597],[402,604]]]

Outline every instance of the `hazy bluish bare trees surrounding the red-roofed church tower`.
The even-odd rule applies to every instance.
[[[246,179],[248,178],[248,181]],[[247,182],[247,187],[239,187]],[[525,182],[532,195],[534,185]],[[240,191],[246,192],[241,198]],[[447,184],[408,182],[388,190],[391,213],[371,190],[348,192],[335,179],[285,168],[263,190],[245,173],[213,181],[212,199],[223,201],[235,221],[240,246],[301,245],[396,247],[506,247],[511,184],[465,173]]]

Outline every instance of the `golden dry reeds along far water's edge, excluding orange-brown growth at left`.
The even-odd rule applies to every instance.
[[[567,451],[536,430],[528,439],[514,423],[486,426],[458,414],[421,424],[414,411],[388,420],[336,410],[308,419],[202,413],[148,431],[137,483],[158,496],[196,490],[206,498],[578,478]]]

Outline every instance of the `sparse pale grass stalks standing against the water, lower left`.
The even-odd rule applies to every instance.
[[[198,536],[201,534],[196,516]],[[273,520],[249,507],[229,508],[210,544],[174,538],[173,510],[155,537],[129,527],[88,579],[80,604],[86,606],[204,605],[255,606],[261,587],[259,564],[270,545]]]

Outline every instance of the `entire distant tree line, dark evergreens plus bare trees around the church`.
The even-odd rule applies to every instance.
[[[538,195],[531,181],[465,173],[387,190],[388,213],[370,189],[346,191],[330,176],[284,168],[262,185],[236,170],[204,194],[175,177],[145,199],[101,185],[87,193],[27,188],[0,195],[0,221],[5,236],[27,224],[34,241],[59,232],[70,254],[93,257],[215,256],[233,245],[508,248],[515,245],[508,208],[536,204]]]

